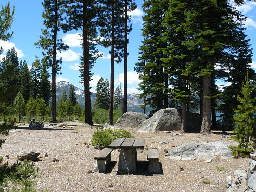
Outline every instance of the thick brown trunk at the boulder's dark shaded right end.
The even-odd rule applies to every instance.
[[[211,75],[203,76],[202,126],[200,133],[211,133],[211,99],[207,98],[211,88]]]

